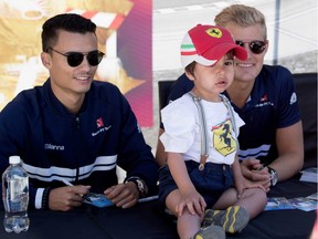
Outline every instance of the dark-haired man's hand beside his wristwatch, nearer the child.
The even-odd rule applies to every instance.
[[[134,181],[127,181],[126,184],[112,186],[107,188],[104,194],[117,207],[121,208],[132,207],[139,199],[139,191]]]

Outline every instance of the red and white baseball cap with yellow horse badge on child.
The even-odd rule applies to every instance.
[[[181,43],[181,64],[183,67],[193,61],[210,66],[215,64],[230,50],[240,60],[247,59],[244,48],[235,44],[231,33],[216,25],[198,24],[187,32]]]

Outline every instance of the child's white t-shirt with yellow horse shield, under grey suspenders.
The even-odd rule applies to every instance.
[[[223,102],[201,100],[208,126],[209,157],[206,162],[233,164],[237,150],[235,132],[232,129],[230,113]],[[232,106],[231,106],[232,107]],[[233,111],[236,132],[244,125]],[[181,153],[184,160],[200,163],[201,125],[199,111],[189,94],[171,102],[161,110],[165,133],[160,141],[166,152]]]

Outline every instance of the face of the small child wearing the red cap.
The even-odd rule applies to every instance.
[[[189,72],[186,74],[193,81],[195,90],[201,94],[198,96],[208,101],[215,101],[219,98],[219,94],[224,92],[233,82],[233,60],[229,55],[224,55],[212,66],[197,63],[193,74],[189,74]]]

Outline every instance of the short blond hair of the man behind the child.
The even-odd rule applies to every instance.
[[[264,40],[267,39],[267,29],[264,14],[257,9],[244,4],[232,4],[215,15],[216,25],[225,28],[227,23],[235,23],[240,27],[261,24],[264,29]]]

